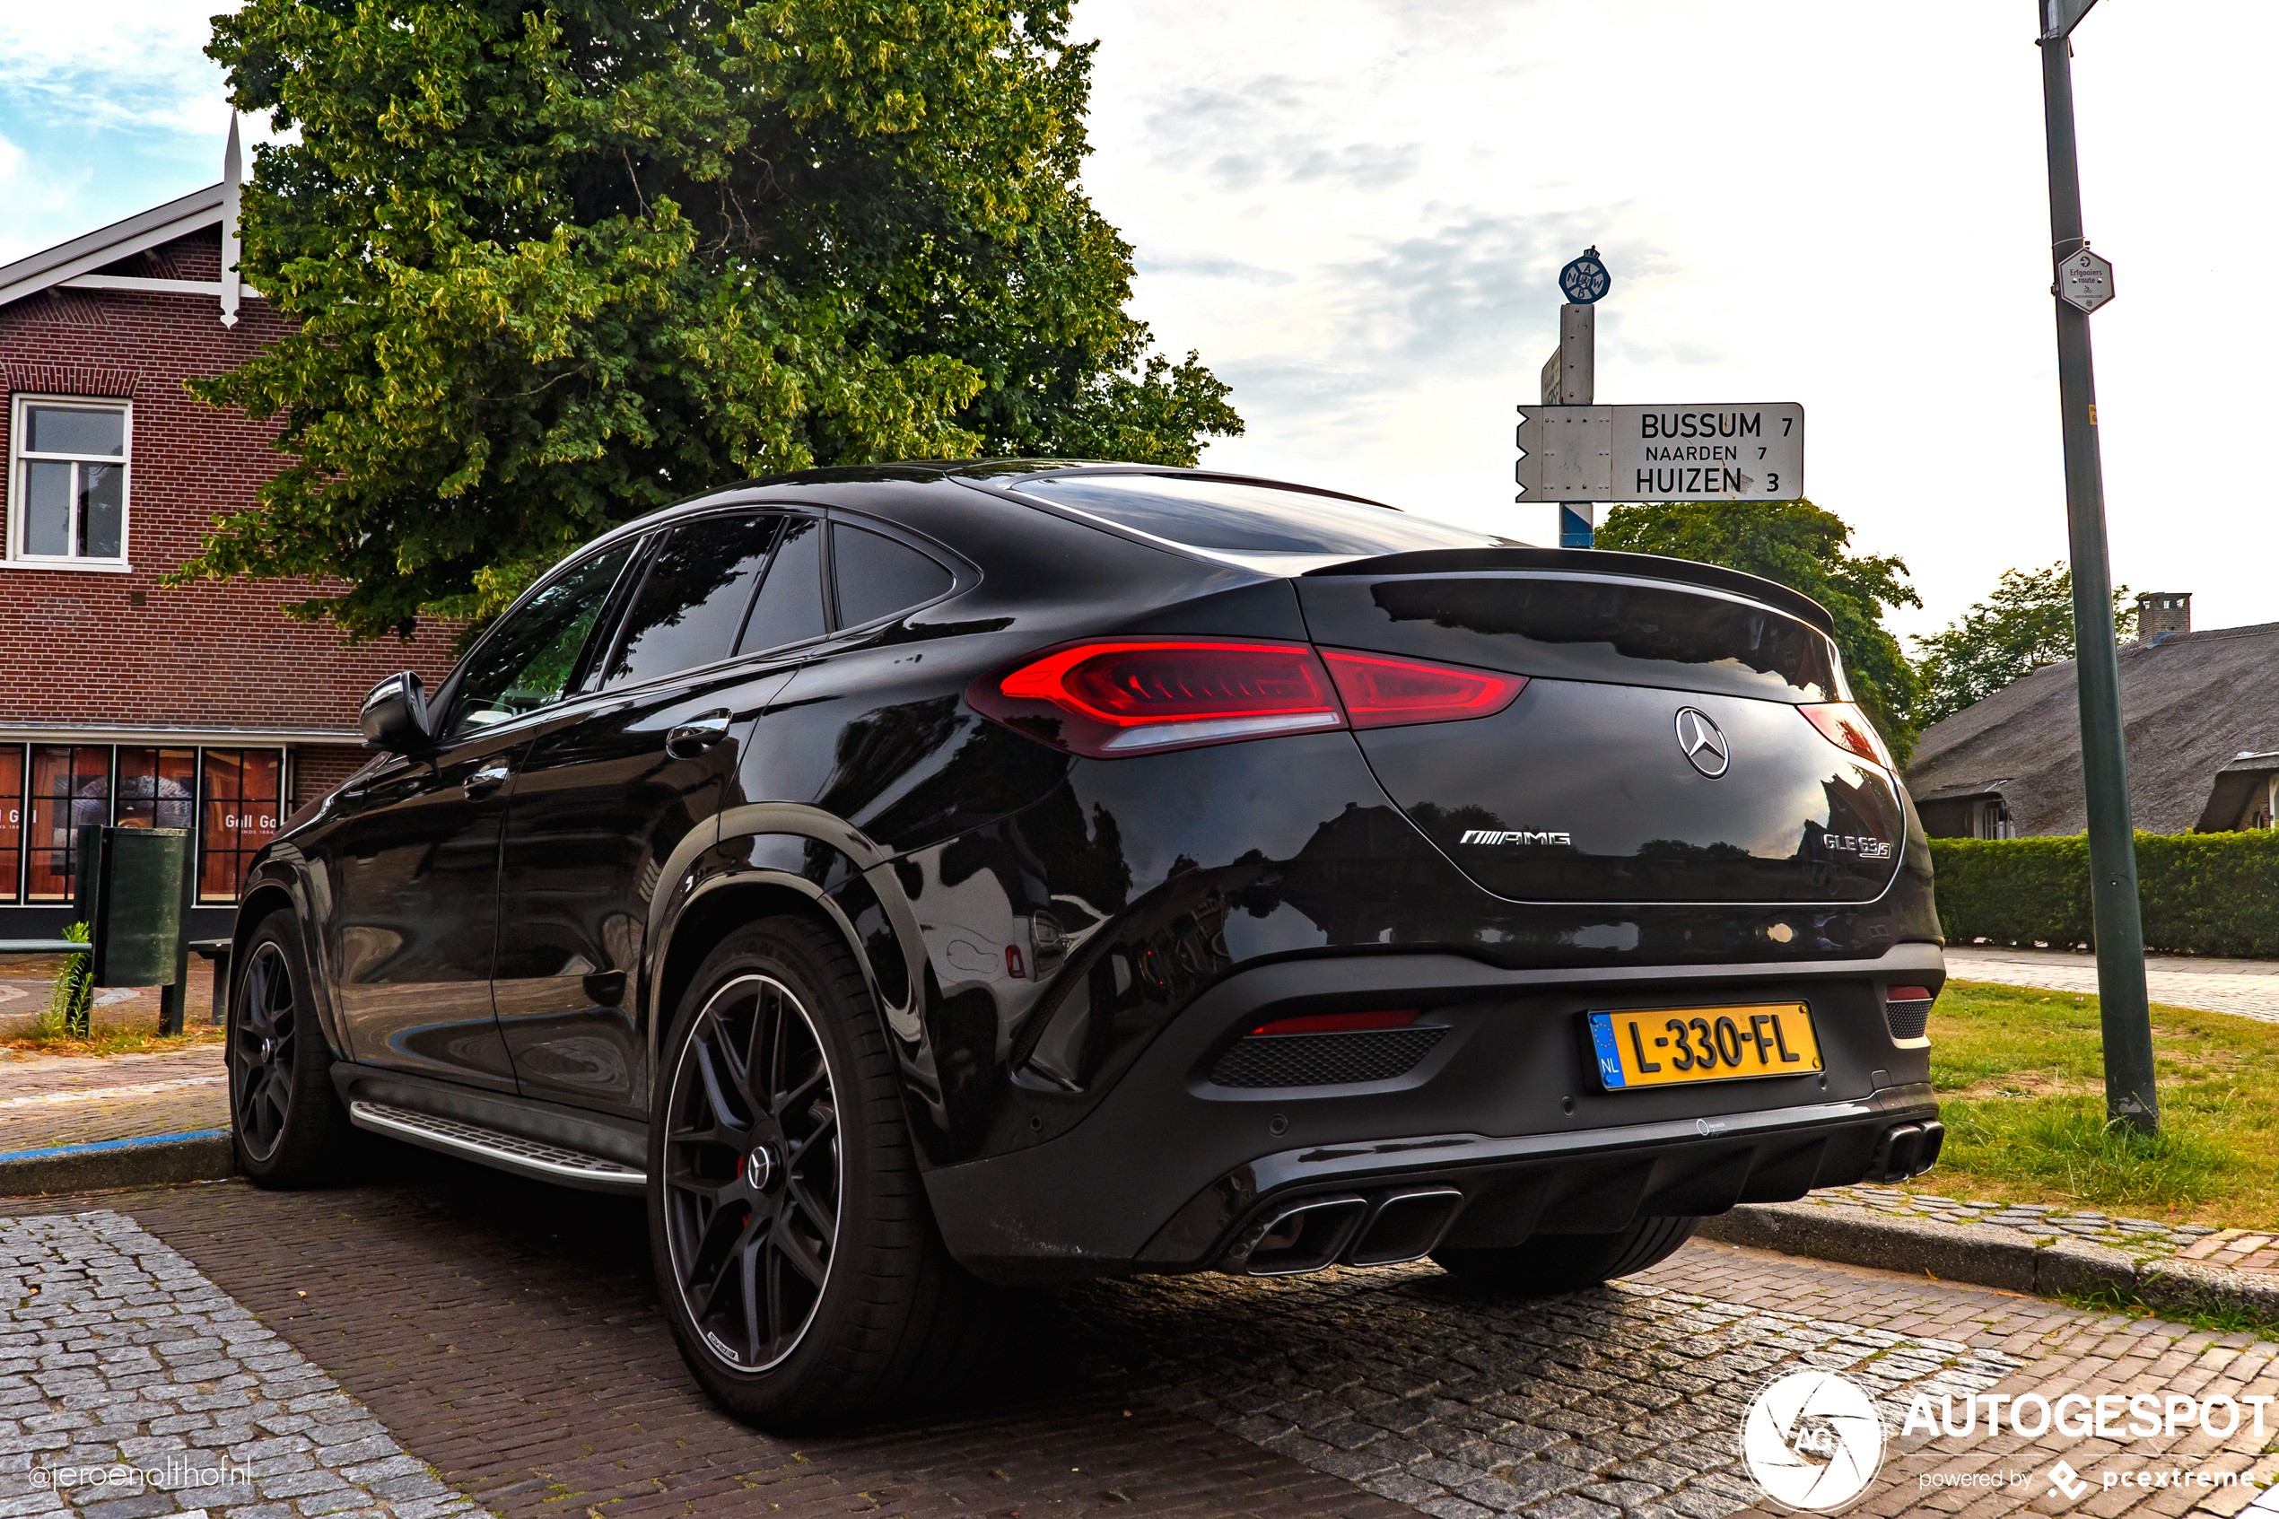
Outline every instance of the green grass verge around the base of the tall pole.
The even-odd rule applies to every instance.
[[[1919,1191],[2174,1223],[2279,1225],[2279,1025],[2154,1007],[2160,1134],[2106,1127],[2097,997],[1949,982],[1930,1018],[1946,1120]]]

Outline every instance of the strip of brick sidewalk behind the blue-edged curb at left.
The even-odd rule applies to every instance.
[[[230,1127],[221,1045],[0,1059],[0,1157]]]

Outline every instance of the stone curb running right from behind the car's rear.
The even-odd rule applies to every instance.
[[[1885,1218],[1819,1202],[1746,1202],[1702,1218],[1702,1239],[1810,1255],[1844,1266],[1928,1273],[1946,1282],[2001,1287],[2053,1298],[2108,1287],[2135,1294],[2156,1312],[2247,1312],[2279,1321],[2279,1280],[2199,1262],[2138,1264],[2122,1250],[2072,1237],[2035,1237],[1992,1223]]]

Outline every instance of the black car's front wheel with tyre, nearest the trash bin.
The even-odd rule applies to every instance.
[[[255,1187],[346,1180],[356,1130],[333,1091],[333,1050],[292,913],[271,913],[253,929],[244,970],[230,979],[226,1066],[239,1175]]]

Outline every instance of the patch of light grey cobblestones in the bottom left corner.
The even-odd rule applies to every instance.
[[[474,1503],[132,1218],[0,1221],[0,1512],[449,1519]]]

